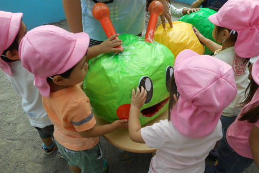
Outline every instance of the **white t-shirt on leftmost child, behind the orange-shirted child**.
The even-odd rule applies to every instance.
[[[6,77],[22,97],[21,105],[31,126],[44,128],[52,125],[43,107],[41,94],[38,88],[34,86],[34,75],[22,66],[21,61],[8,64],[12,69],[13,76],[6,74]]]

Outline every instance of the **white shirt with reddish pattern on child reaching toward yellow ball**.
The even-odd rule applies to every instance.
[[[241,111],[241,108],[239,107],[240,103],[245,100],[245,90],[250,82],[248,79],[248,62],[245,64],[244,61],[246,59],[239,57],[236,54],[234,46],[222,51],[220,49],[216,50],[214,56],[232,66],[237,86],[237,96],[230,105],[223,110],[222,115],[226,117],[238,116]]]

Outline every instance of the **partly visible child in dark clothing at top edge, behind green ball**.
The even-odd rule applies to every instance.
[[[191,4],[191,8],[210,8],[218,11],[228,0],[196,0]]]

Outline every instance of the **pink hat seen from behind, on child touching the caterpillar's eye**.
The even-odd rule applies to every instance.
[[[171,111],[173,125],[190,138],[207,136],[236,97],[232,67],[186,49],[175,59],[174,77],[180,97]]]

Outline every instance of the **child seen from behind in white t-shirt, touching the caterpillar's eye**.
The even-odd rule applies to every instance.
[[[141,128],[139,110],[146,91],[137,88],[136,94],[132,91],[128,130],[133,141],[157,148],[149,172],[204,172],[206,156],[222,137],[221,112],[237,93],[233,71],[189,49],[178,54],[174,67],[169,120]]]

